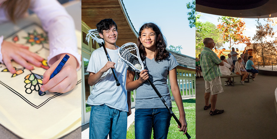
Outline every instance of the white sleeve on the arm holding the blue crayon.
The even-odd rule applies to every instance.
[[[77,52],[75,25],[65,8],[56,0],[32,0],[30,10],[37,14],[43,29],[48,33],[50,47],[48,65],[58,60],[57,55],[69,53],[77,59],[77,70],[80,69],[81,55]]]

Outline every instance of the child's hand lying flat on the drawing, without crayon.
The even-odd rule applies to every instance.
[[[28,49],[29,47],[23,46],[22,44],[3,41],[1,49],[3,62],[12,74],[14,74],[16,71],[11,64],[11,60],[14,60],[28,70],[32,70],[34,68],[31,64],[41,67],[42,64],[40,61],[43,61],[44,59],[35,53],[30,52]]]

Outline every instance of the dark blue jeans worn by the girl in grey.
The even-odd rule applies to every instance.
[[[154,139],[166,139],[170,119],[171,114],[166,108],[136,109],[135,139],[150,139],[152,127]]]

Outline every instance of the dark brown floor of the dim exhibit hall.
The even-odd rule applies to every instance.
[[[217,109],[224,113],[210,116],[205,105],[205,82],[196,79],[196,138],[276,138],[277,115],[274,105],[276,76],[257,75],[256,81],[240,85],[240,77],[235,77],[235,86],[224,86],[218,94]]]

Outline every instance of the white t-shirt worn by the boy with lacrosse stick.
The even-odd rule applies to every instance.
[[[93,90],[90,92],[90,96],[87,99],[87,104],[101,105],[106,104],[117,110],[128,112],[127,104],[127,90],[126,86],[126,64],[124,62],[119,62],[119,56],[117,55],[117,50],[107,49],[107,52],[111,58],[111,61],[116,63],[114,65],[114,72],[120,83],[120,86],[116,86],[116,81],[112,70],[109,69],[105,72],[100,80],[94,85]],[[90,56],[90,61],[87,66],[87,72],[97,73],[103,68],[108,59],[106,57],[103,47],[100,47],[93,51]]]

